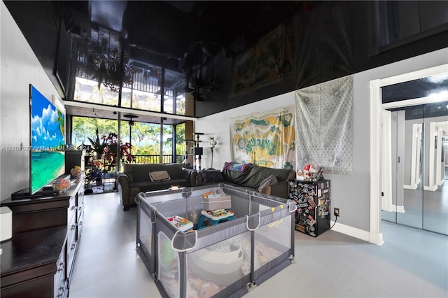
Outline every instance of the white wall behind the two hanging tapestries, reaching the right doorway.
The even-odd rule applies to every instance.
[[[332,207],[340,209],[334,229],[369,241],[370,232],[370,81],[427,69],[448,62],[448,48],[410,59],[356,73],[353,77],[353,174],[351,176],[325,174],[331,180]],[[221,169],[231,162],[230,121],[237,115],[270,111],[294,104],[294,92],[282,94],[229,111],[197,120],[195,132],[203,132],[202,139],[215,136],[218,145],[214,154],[214,168]],[[297,128],[296,129],[300,129]],[[204,146],[205,147],[205,146]],[[202,168],[209,167],[210,152],[204,150]],[[380,198],[377,198],[378,200]],[[379,204],[381,206],[381,204]],[[379,213],[379,212],[378,212]],[[334,217],[332,217],[334,220]],[[372,228],[374,229],[374,228]]]

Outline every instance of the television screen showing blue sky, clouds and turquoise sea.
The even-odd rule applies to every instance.
[[[29,192],[35,194],[65,172],[65,116],[31,84],[29,96]]]

